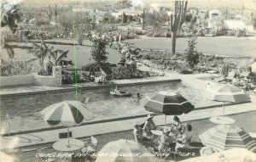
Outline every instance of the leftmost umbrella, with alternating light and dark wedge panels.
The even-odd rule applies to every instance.
[[[67,126],[67,135],[69,135],[69,127],[80,125],[84,120],[92,120],[95,115],[86,108],[83,103],[78,101],[62,101],[45,108],[40,112],[44,116],[44,121],[49,126],[62,124]],[[67,136],[68,137],[68,136]],[[68,137],[69,145],[69,137]]]

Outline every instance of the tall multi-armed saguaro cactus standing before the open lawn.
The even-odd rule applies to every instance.
[[[188,1],[175,1],[174,14],[170,17],[170,31],[172,31],[172,53],[175,53],[177,31],[183,24],[187,11]]]

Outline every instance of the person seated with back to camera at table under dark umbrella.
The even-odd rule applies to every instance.
[[[165,128],[163,131],[163,135],[160,137],[159,142],[159,152],[166,153],[169,151],[169,143],[171,142],[171,138],[168,136],[171,130]]]

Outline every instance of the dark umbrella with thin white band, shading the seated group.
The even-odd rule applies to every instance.
[[[166,115],[187,114],[195,108],[195,106],[189,103],[187,99],[176,92],[161,91],[155,94],[152,98],[149,98],[148,96],[146,98],[148,98],[148,101],[145,103],[144,108],[150,112],[164,114],[165,126]]]

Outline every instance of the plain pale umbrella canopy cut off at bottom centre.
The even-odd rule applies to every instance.
[[[147,148],[135,141],[119,139],[108,142],[98,153],[96,162],[152,161],[152,156],[143,156],[148,153]]]

